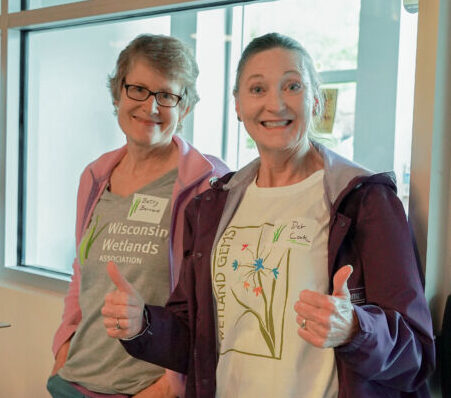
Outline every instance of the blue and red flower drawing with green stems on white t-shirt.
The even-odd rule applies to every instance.
[[[272,241],[269,244],[264,245],[262,243],[263,230],[260,229],[259,237],[256,246],[250,243],[243,243],[241,251],[245,253],[240,259],[234,259],[232,261],[232,269],[239,273],[239,278],[242,282],[241,292],[250,292],[255,295],[254,300],[258,298],[258,302],[252,302],[247,300],[238,290],[231,289],[232,295],[236,302],[243,308],[243,312],[236,319],[235,325],[237,325],[244,317],[250,315],[256,322],[258,322],[259,331],[270,351],[270,355],[276,358],[276,346],[280,341],[277,341],[281,336],[276,336],[276,328],[274,325],[274,297],[277,291],[277,284],[279,282],[279,276],[284,266],[284,274],[288,275],[288,264],[290,257],[290,248],[284,249],[282,252],[277,251],[273,253],[274,243],[278,241],[280,234],[285,226],[277,228],[274,232]],[[282,282],[280,282],[282,283]],[[284,287],[281,286],[283,289]],[[280,292],[278,293],[280,294]],[[252,303],[252,304],[251,304]]]

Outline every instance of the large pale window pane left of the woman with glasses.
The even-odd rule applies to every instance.
[[[70,271],[83,168],[125,143],[107,88],[119,52],[170,18],[29,35],[25,239],[27,265]]]

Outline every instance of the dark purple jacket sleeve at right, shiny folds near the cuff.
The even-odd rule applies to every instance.
[[[366,304],[354,306],[360,331],[336,355],[367,380],[415,391],[434,368],[432,321],[404,209],[387,186],[365,189],[353,248]]]

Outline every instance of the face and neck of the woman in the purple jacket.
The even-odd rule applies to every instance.
[[[264,42],[262,48],[248,48],[238,65],[236,112],[256,142],[262,163],[268,162],[260,169],[259,185],[290,185],[323,168],[308,136],[322,96],[311,58],[303,49],[299,52],[291,43],[287,46],[293,51],[263,46]],[[303,167],[274,178],[266,171],[280,157],[297,158]]]

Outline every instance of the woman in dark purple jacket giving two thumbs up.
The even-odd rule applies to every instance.
[[[432,322],[392,175],[314,142],[322,96],[295,40],[248,44],[234,94],[259,158],[188,205],[165,307],[108,265],[107,333],[186,373],[187,398],[429,397]]]

